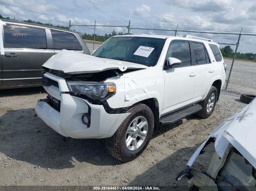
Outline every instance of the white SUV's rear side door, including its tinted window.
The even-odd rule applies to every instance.
[[[196,85],[193,102],[200,101],[216,77],[214,66],[210,62],[209,54],[203,43],[192,42],[194,66],[196,68]],[[208,93],[208,92],[207,92]]]

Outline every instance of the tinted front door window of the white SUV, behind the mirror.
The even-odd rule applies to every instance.
[[[181,61],[181,67],[191,65],[191,55],[188,42],[172,42],[167,52],[169,57],[177,58]]]

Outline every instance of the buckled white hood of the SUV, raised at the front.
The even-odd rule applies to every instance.
[[[59,70],[67,74],[95,73],[111,69],[141,69],[148,66],[132,62],[98,58],[70,50],[62,50],[48,59],[43,67]]]

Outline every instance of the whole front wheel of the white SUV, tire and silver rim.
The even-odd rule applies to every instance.
[[[126,113],[131,114],[118,127],[115,134],[105,140],[105,145],[113,157],[129,162],[137,158],[148,146],[154,130],[154,115],[151,109],[142,103],[136,103]],[[148,125],[145,125],[146,123]],[[141,129],[136,129],[135,124],[141,125]],[[146,135],[145,132],[147,132]],[[141,135],[145,135],[145,138],[141,138]],[[129,143],[131,144],[128,145]]]

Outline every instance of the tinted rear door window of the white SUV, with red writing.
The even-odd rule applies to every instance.
[[[195,55],[194,61],[196,65],[209,63],[209,57],[203,44],[193,43],[193,49]]]

